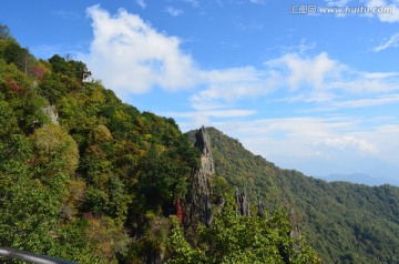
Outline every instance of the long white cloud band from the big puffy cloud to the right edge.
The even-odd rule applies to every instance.
[[[399,90],[399,74],[396,72],[360,72],[332,60],[321,52],[315,57],[288,53],[269,60],[262,69],[254,67],[202,71],[205,88],[191,97],[192,106],[198,111],[221,108],[252,98],[266,97],[278,91],[288,91],[284,102],[328,103],[342,94],[365,97]],[[294,94],[294,95],[293,95]],[[362,100],[362,101],[361,101]],[[273,100],[272,100],[273,101]],[[276,101],[276,100],[275,100]],[[360,99],[364,106],[396,102],[396,95]],[[355,102],[347,102],[349,106]],[[339,102],[327,109],[337,109]],[[321,109],[320,109],[321,110]]]

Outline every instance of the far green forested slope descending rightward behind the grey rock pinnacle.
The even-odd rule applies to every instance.
[[[295,211],[305,236],[326,263],[399,262],[399,189],[327,183],[282,170],[234,139],[207,129],[216,175],[245,187],[253,204]],[[194,132],[190,132],[193,138]]]

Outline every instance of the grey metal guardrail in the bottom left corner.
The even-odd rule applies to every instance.
[[[1,247],[0,246],[0,256],[7,256],[7,257],[11,257],[11,258],[17,258],[20,261],[25,261],[25,262],[30,262],[30,263],[37,263],[37,264],[76,264],[74,262],[69,262],[69,261],[64,261],[64,260],[60,260],[60,258],[55,258],[55,257],[51,257],[51,256],[43,256],[43,255],[38,255],[31,252],[27,252],[27,251],[19,251],[19,250],[14,250],[14,248],[8,248],[8,247]],[[0,263],[1,263],[1,258],[0,258]]]

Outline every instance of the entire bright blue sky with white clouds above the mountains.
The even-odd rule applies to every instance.
[[[398,0],[2,0],[0,23],[183,131],[307,175],[399,180]]]

